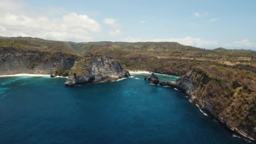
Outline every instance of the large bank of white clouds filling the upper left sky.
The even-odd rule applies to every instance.
[[[2,2],[1,2],[2,4]],[[5,5],[17,5],[5,1]],[[93,33],[101,32],[101,26],[86,15],[74,12],[64,13],[61,17],[51,18],[48,15],[29,13],[26,8],[19,11],[8,11],[0,6],[0,35],[7,37],[30,36],[51,40],[91,41]]]

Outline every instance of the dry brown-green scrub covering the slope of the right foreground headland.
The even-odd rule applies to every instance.
[[[233,128],[245,133],[256,132],[256,74],[211,65],[193,70],[192,83],[197,85],[199,104],[208,101],[216,115]]]

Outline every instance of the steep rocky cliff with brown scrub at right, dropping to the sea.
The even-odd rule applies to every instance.
[[[229,83],[230,80],[194,69],[177,80],[176,87],[230,130],[256,140],[256,95],[241,85],[234,88],[233,93]]]

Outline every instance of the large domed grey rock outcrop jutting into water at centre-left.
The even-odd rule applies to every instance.
[[[75,62],[65,85],[113,81],[130,76],[115,59],[107,56],[91,56]]]

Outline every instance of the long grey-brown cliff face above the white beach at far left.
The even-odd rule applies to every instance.
[[[79,58],[70,53],[0,48],[0,75],[50,74],[58,68],[71,68]]]

